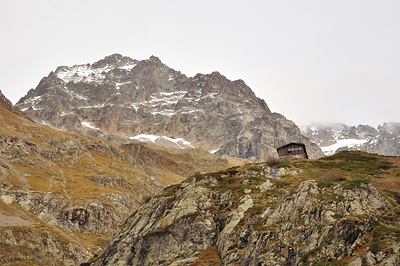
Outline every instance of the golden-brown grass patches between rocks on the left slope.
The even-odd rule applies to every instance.
[[[95,137],[66,133],[38,125],[1,107],[0,137],[18,138],[17,144],[10,144],[12,152],[17,151],[17,154],[10,156],[7,150],[4,150],[3,153],[0,152],[1,184],[11,185],[10,189],[12,190],[50,192],[54,196],[65,196],[68,197],[71,204],[101,198],[103,194],[118,193],[121,190],[128,190],[140,202],[161,187],[176,184],[185,179],[185,169],[188,169],[188,171],[210,171],[229,165],[225,161],[221,163],[216,156],[205,156],[199,151],[188,151],[190,155],[188,156],[188,154],[179,152],[171,153],[146,147],[144,149],[150,150],[152,154],[165,157],[167,161],[176,161],[174,167],[178,167],[179,171],[174,171],[168,164],[158,164],[158,161],[136,165],[132,158],[129,159],[128,152],[119,149],[115,144]],[[90,156],[75,156],[68,154],[68,151],[60,151],[57,148],[58,144],[62,145],[68,142],[78,143],[78,152],[80,152],[79,148],[82,148],[83,153],[89,151]],[[22,148],[18,146],[20,143],[22,143]],[[92,146],[99,148],[92,149]],[[35,152],[31,150],[26,154],[24,153],[25,147],[32,147]],[[115,153],[113,154],[113,149],[118,150],[115,152],[118,156],[115,156]],[[40,153],[43,151],[44,153]],[[50,159],[43,154],[55,154],[56,156]],[[158,185],[154,186],[154,184],[148,182],[152,181],[147,177],[149,173],[153,175]],[[99,186],[88,178],[90,176],[100,178],[122,177],[130,183],[130,187]],[[104,197],[102,200],[107,201]],[[109,200],[111,201],[111,199]],[[3,215],[15,217],[15,225],[0,226],[1,231],[10,228],[19,230],[21,225],[18,225],[16,221],[22,217],[21,219],[30,223],[29,226],[23,226],[24,229],[32,231],[40,231],[43,228],[51,231],[57,230],[56,235],[60,235],[62,241],[76,241],[92,251],[104,247],[110,237],[86,235],[79,232],[71,233],[48,225],[31,212],[22,215],[26,211],[18,203],[8,206],[2,201],[0,202],[0,208],[4,210]],[[9,253],[9,248],[2,247],[0,252]],[[32,263],[31,265],[36,265],[34,262]]]

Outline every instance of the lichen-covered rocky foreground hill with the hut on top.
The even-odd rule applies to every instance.
[[[195,175],[83,265],[400,265],[399,165],[341,152]]]

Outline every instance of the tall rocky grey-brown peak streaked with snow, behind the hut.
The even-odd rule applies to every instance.
[[[187,77],[154,56],[138,61],[114,54],[58,67],[16,106],[40,123],[110,140],[197,147],[251,161],[303,142],[311,158],[323,156],[242,80],[218,72]]]

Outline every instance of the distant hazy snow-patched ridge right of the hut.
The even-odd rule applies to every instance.
[[[303,135],[319,145],[325,155],[342,150],[360,150],[387,156],[400,156],[400,123],[384,123],[377,128],[345,124],[301,127]]]

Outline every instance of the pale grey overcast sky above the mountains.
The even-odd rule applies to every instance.
[[[155,55],[243,79],[299,125],[400,122],[400,1],[0,0],[0,90],[57,66]]]

